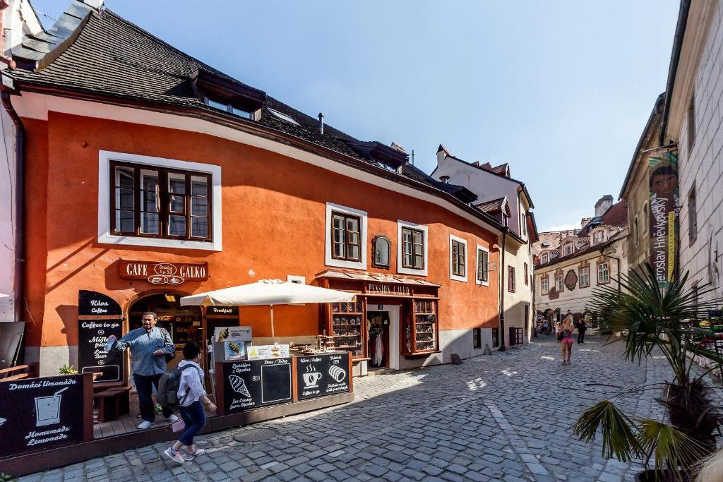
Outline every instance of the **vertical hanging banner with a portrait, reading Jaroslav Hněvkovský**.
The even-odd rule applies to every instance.
[[[675,276],[678,240],[678,153],[651,157],[650,264],[658,283],[666,286]]]

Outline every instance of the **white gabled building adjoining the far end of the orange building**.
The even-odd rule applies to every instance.
[[[507,163],[468,163],[442,145],[432,177],[463,186],[477,195],[476,207],[496,218],[508,233],[500,235],[500,326],[505,346],[528,343],[533,318],[532,249],[536,226],[534,207],[525,184],[510,177]]]

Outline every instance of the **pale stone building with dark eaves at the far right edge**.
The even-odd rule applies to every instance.
[[[683,1],[660,145],[677,143],[680,267],[723,296],[723,2]]]

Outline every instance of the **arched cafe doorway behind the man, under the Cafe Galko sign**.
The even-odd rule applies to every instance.
[[[168,363],[168,369],[174,368],[183,358],[179,356],[188,341],[194,341],[205,348],[203,334],[203,316],[200,306],[181,306],[181,293],[155,293],[139,298],[131,304],[128,313],[128,330],[142,326],[141,319],[146,311],[158,315],[157,327],[171,335],[176,345],[176,357]],[[205,351],[205,350],[204,350]]]

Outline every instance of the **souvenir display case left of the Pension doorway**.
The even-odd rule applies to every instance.
[[[328,306],[328,333],[332,340],[327,343],[327,348],[345,350],[354,358],[364,358],[364,301],[331,303]]]

